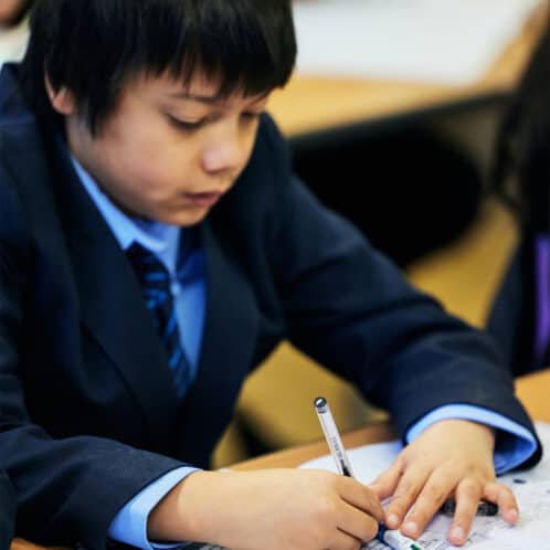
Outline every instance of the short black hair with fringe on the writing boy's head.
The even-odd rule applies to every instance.
[[[140,73],[186,85],[200,67],[221,96],[255,95],[283,86],[295,57],[290,0],[38,0],[22,82],[39,115],[52,114],[45,71],[95,133]]]

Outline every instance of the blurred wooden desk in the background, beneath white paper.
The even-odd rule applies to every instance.
[[[501,99],[516,86],[547,19],[547,9],[538,10],[521,35],[475,84],[444,86],[297,75],[285,89],[274,93],[269,112],[288,137],[297,137],[358,123],[376,124]]]

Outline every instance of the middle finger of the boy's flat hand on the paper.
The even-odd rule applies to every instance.
[[[414,507],[406,517],[402,531],[408,537],[419,537],[434,517],[447,496],[454,490],[456,478],[453,472],[438,468],[422,487]]]

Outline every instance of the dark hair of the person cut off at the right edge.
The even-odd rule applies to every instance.
[[[518,214],[523,231],[549,230],[550,27],[503,119],[493,187]]]

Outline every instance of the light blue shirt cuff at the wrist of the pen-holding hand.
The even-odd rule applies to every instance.
[[[160,500],[193,472],[197,472],[197,468],[181,467],[172,469],[141,489],[115,516],[109,526],[108,537],[144,550],[181,547],[183,542],[173,544],[151,543],[147,539],[147,520],[149,514]]]

